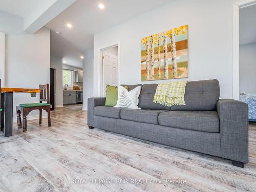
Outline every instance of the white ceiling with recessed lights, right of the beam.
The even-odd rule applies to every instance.
[[[77,0],[46,27],[60,31],[63,38],[84,52],[93,48],[94,34],[170,1],[172,0]],[[103,3],[105,9],[99,9],[99,3]],[[68,29],[67,23],[71,23],[73,28]]]

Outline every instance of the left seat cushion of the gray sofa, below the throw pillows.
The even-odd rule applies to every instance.
[[[120,119],[121,109],[122,108],[114,108],[113,106],[95,106],[93,113],[97,116]]]

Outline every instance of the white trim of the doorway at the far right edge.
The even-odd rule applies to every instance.
[[[233,99],[239,100],[239,9],[256,4],[256,0],[239,0],[232,4]]]

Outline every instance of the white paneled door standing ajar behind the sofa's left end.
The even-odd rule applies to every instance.
[[[116,55],[102,52],[103,56],[103,97],[106,95],[106,85],[118,86],[118,59]]]

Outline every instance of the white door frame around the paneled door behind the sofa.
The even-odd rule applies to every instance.
[[[112,47],[117,47],[118,48],[118,58],[117,58],[117,66],[118,66],[118,74],[117,74],[117,77],[118,77],[118,85],[120,83],[120,42],[117,41],[117,42],[113,42],[109,45],[105,45],[105,46],[101,46],[98,48],[98,63],[99,63],[99,71],[100,71],[100,75],[99,75],[99,96],[100,97],[103,97],[103,63],[102,63],[102,55],[101,55],[101,52],[106,50],[106,49],[109,49],[109,48],[112,48]]]

